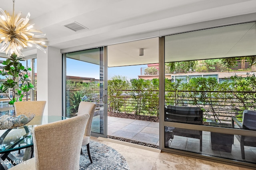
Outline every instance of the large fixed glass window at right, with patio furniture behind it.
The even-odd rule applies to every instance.
[[[164,149],[256,163],[255,55],[255,22],[165,37]]]

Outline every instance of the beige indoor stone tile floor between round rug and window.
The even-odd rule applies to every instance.
[[[91,140],[103,143],[117,150],[128,162],[130,170],[248,170],[246,168],[160,152],[159,149],[113,139],[91,137]]]

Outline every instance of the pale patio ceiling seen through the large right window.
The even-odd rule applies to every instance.
[[[165,37],[165,62],[256,55],[255,22]]]

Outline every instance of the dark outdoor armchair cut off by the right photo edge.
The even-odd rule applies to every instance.
[[[235,127],[234,122],[236,122],[236,125],[238,125],[240,129],[256,131],[256,111],[244,110],[242,123],[240,123],[236,117],[232,117],[232,127]],[[244,146],[256,147],[256,137],[243,135],[235,135],[235,137],[240,142],[242,159],[245,159]]]

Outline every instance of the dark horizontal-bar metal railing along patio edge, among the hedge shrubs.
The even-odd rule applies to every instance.
[[[120,91],[122,95],[108,96],[108,111],[158,116],[158,91],[145,91],[143,95],[133,90]],[[152,95],[148,95],[149,92]],[[256,96],[256,92],[166,91],[165,93],[165,105],[201,107],[204,121],[230,123],[231,117],[239,117],[244,109],[256,110],[256,98],[253,97]],[[237,96],[251,96],[251,98]]]

